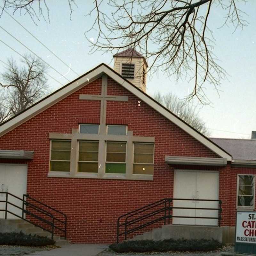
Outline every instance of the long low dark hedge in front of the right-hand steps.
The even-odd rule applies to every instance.
[[[138,240],[126,241],[120,244],[111,244],[109,248],[114,252],[169,252],[169,251],[214,251],[222,248],[224,244],[218,240],[207,239],[167,239],[161,241]]]

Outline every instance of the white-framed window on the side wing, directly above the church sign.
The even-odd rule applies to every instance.
[[[237,209],[254,209],[255,175],[238,174]]]

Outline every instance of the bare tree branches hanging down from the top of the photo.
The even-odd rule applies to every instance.
[[[49,18],[46,2],[4,0],[4,8],[28,13],[39,20],[40,15],[45,17],[45,12]],[[76,1],[67,3],[71,15]],[[97,34],[90,41],[91,53],[102,50],[115,54],[132,47],[146,57],[151,74],[162,70],[176,79],[192,80],[194,88],[186,100],[196,97],[202,104],[209,104],[204,86],[210,83],[219,93],[220,83],[227,75],[212,51],[215,43],[208,27],[212,8],[226,13],[223,25],[231,24],[234,29],[247,25],[239,8],[246,0],[93,0],[93,3],[88,13],[92,26],[85,32],[89,41],[92,32]]]

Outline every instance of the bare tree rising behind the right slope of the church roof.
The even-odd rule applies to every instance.
[[[178,97],[171,92],[165,95],[156,92],[153,95],[153,98],[165,108],[169,109],[173,114],[194,127],[198,132],[203,133],[207,137],[211,135],[205,122],[198,117],[198,111],[196,111],[196,108],[192,106],[191,103],[186,103],[183,100],[178,99]]]

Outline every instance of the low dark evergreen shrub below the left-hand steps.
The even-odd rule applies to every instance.
[[[55,241],[46,236],[26,235],[22,232],[0,233],[0,245],[45,246]]]

